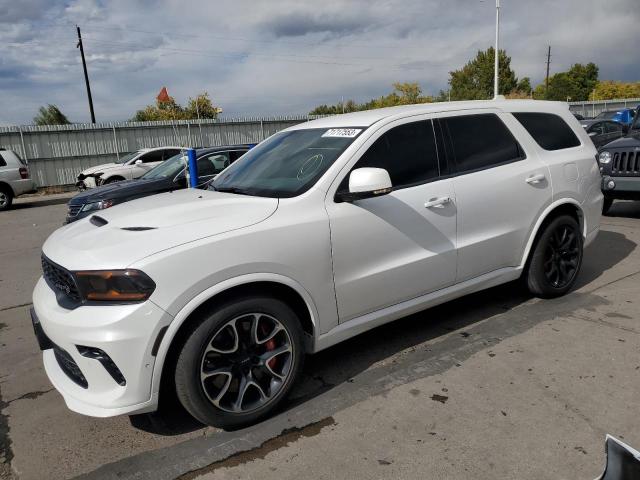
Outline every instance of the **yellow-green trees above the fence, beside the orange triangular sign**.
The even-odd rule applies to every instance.
[[[197,106],[197,108],[196,108]],[[158,120],[192,120],[195,118],[216,118],[222,109],[215,107],[207,92],[189,98],[187,107],[182,107],[169,95],[156,99],[155,105],[147,105],[133,116],[134,122],[153,122]]]

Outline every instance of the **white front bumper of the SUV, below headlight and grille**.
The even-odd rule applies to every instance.
[[[168,313],[150,301],[67,310],[41,278],[33,292],[33,314],[45,371],[71,410],[110,417],[157,408],[157,396],[151,393],[152,350],[160,330],[172,320]],[[108,363],[87,355],[83,347],[106,353],[125,382],[118,383]]]

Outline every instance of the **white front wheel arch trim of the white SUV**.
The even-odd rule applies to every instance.
[[[250,274],[219,283],[188,302],[168,325],[157,349],[153,369],[152,393],[160,393],[170,379],[171,365],[176,360],[179,347],[184,342],[191,322],[205,309],[240,295],[262,293],[273,295],[287,302],[301,321],[305,333],[305,350],[312,351],[317,336],[318,313],[311,295],[295,280],[276,274]],[[166,367],[169,367],[167,369]]]

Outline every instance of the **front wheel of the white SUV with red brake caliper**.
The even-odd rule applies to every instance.
[[[278,407],[303,360],[300,321],[286,303],[268,296],[232,299],[191,327],[176,362],[176,393],[200,422],[237,429]]]

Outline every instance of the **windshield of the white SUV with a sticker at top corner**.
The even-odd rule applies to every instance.
[[[209,186],[263,197],[295,197],[318,181],[364,128],[280,132],[249,150]]]

